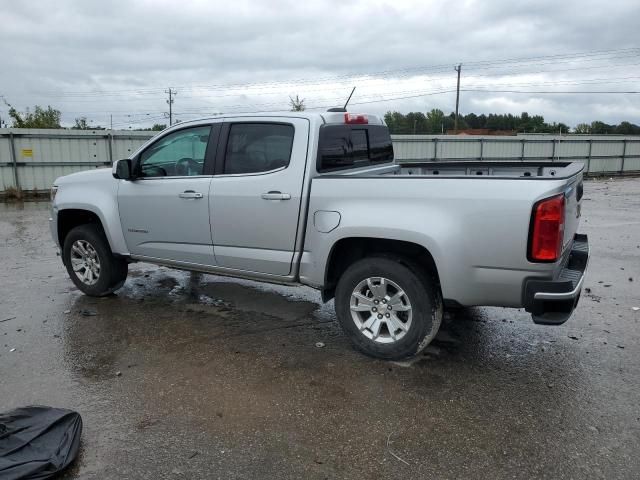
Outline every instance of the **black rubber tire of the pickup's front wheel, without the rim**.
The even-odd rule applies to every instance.
[[[81,280],[73,270],[71,249],[78,241],[93,247],[100,265],[97,281],[91,285]],[[62,259],[73,283],[90,297],[109,295],[122,287],[127,279],[129,266],[126,260],[113,256],[104,232],[95,224],[80,225],[67,234],[62,247]]]

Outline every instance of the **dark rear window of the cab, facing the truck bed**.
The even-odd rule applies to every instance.
[[[317,169],[331,172],[393,161],[389,129],[384,125],[323,125]]]

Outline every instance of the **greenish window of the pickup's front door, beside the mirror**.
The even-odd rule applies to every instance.
[[[202,175],[211,126],[185,128],[162,137],[140,155],[141,177]]]

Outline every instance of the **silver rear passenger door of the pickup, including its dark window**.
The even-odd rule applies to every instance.
[[[303,118],[225,120],[210,190],[218,266],[291,273],[308,134]]]

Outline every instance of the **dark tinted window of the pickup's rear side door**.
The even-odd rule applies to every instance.
[[[293,135],[292,125],[232,124],[227,140],[224,173],[260,173],[288,166]]]

